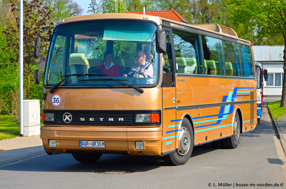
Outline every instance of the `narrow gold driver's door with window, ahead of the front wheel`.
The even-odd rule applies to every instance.
[[[166,31],[167,50],[162,56],[162,104],[163,104],[163,142],[162,155],[175,151],[176,145],[176,87],[174,83],[174,66],[170,42],[170,31]]]

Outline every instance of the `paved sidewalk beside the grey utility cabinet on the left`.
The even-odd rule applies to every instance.
[[[40,135],[15,137],[0,141],[0,165],[44,154]]]

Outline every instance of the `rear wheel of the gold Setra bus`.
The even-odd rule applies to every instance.
[[[239,143],[239,137],[240,137],[240,120],[238,113],[235,112],[233,120],[233,135],[231,137],[223,139],[223,146],[228,149],[236,148]]]

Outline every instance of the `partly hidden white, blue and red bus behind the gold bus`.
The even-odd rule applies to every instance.
[[[263,103],[263,77],[264,81],[268,80],[267,69],[263,69],[262,64],[255,62],[256,73],[256,96],[257,96],[257,124],[261,118],[262,103]]]

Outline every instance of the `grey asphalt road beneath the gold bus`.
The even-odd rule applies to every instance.
[[[194,147],[185,165],[168,166],[160,157],[105,154],[84,164],[69,154],[39,155],[0,166],[0,188],[285,188],[281,163],[286,160],[279,158],[282,148],[275,145],[278,139],[266,111],[255,130],[241,135],[236,149]],[[95,173],[102,170],[135,172]]]

